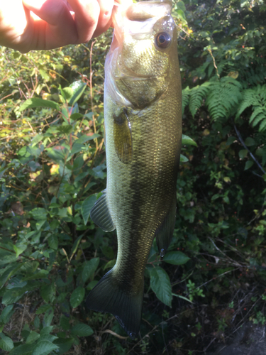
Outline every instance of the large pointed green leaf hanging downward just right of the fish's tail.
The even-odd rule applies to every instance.
[[[150,269],[150,287],[160,301],[171,307],[172,288],[170,278],[160,266]]]

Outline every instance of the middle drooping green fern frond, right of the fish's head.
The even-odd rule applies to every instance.
[[[223,77],[221,80],[211,82],[206,105],[211,114],[211,119],[228,118],[235,111],[242,94],[242,85],[232,77]]]

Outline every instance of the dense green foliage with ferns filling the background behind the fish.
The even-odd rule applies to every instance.
[[[106,186],[111,30],[56,50],[0,47],[0,354],[202,354],[248,320],[265,324],[266,6],[174,1],[173,16],[177,222],[165,258],[150,251],[135,341],[84,309],[117,251],[89,219]]]

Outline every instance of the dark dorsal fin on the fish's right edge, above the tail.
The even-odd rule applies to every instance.
[[[170,208],[169,213],[165,217],[164,222],[157,229],[156,243],[159,249],[160,256],[165,256],[168,246],[170,245],[172,235],[174,233],[174,224],[175,217],[177,212],[177,197],[174,196],[174,201],[172,202],[172,206]]]

